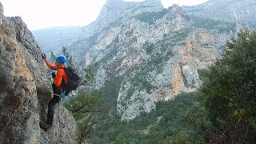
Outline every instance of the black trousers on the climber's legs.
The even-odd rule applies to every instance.
[[[54,120],[54,106],[61,101],[61,97],[57,96],[56,94],[62,94],[61,90],[58,90],[58,87],[55,86],[55,84],[52,84],[53,90],[54,90],[54,97],[50,99],[50,102],[48,103],[48,111],[47,111],[47,121],[49,125],[53,124]]]

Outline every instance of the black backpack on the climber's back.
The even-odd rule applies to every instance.
[[[69,77],[70,82],[65,83],[62,81],[62,88],[64,90],[76,90],[79,86],[79,76],[74,72],[74,69],[70,66],[63,68]]]

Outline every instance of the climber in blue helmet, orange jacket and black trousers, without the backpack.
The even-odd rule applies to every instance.
[[[51,98],[50,102],[48,103],[47,120],[46,122],[40,122],[40,127],[47,131],[53,124],[54,106],[61,101],[61,98],[65,98],[66,95],[70,93],[70,90],[65,90],[63,88],[63,85],[69,82],[69,77],[64,69],[64,64],[67,62],[66,57],[63,55],[58,56],[58,58],[56,58],[55,65],[52,65],[50,61],[46,59],[46,54],[42,54],[42,59],[45,60],[46,65],[50,69],[57,70],[56,74],[54,72],[51,74],[52,78],[54,78],[54,82],[52,84],[54,97]]]

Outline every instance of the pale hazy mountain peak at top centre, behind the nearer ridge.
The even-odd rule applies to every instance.
[[[95,22],[85,27],[83,37],[94,37],[95,34],[114,26],[122,18],[130,18],[133,14],[161,11],[164,7],[159,0],[146,0],[144,2],[123,2],[122,0],[107,0],[102,7],[101,14]]]

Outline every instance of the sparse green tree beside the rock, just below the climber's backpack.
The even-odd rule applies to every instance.
[[[102,98],[102,92],[95,90],[90,94],[78,92],[75,97],[64,102],[64,106],[70,110],[78,124],[78,143],[84,142],[88,134],[106,118],[110,111],[110,106],[102,102]]]

